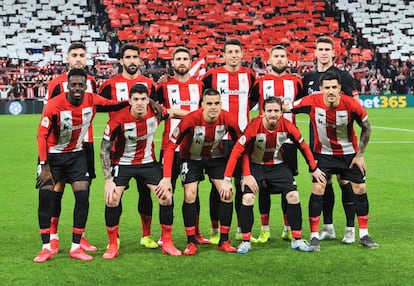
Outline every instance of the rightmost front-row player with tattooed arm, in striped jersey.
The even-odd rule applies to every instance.
[[[284,106],[286,111],[306,113],[313,126],[313,152],[319,168],[330,179],[339,174],[351,182],[354,192],[355,212],[359,224],[359,243],[368,248],[378,248],[368,234],[368,197],[366,194],[366,166],[363,153],[367,147],[371,126],[363,107],[352,98],[341,94],[341,77],[334,71],[325,72],[320,78],[321,93],[307,96]],[[359,145],[354,131],[354,121],[361,127]],[[311,246],[320,249],[319,221],[322,211],[324,183],[313,181],[309,201]]]

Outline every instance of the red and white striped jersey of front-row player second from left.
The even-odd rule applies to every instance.
[[[163,119],[168,112],[163,109]],[[113,141],[111,154],[114,165],[136,165],[155,162],[154,134],[160,121],[148,106],[147,115],[137,119],[131,115],[130,107],[118,111],[106,124],[103,138]]]

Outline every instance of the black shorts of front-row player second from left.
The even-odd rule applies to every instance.
[[[147,185],[158,185],[162,179],[162,168],[158,162],[136,165],[115,165],[112,175],[117,186],[128,186],[129,180],[143,180]]]

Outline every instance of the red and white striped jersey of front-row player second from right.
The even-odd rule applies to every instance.
[[[275,130],[269,131],[263,124],[263,118],[257,117],[250,122],[243,135],[234,145],[227,162],[225,177],[232,177],[237,160],[245,149],[249,160],[243,160],[243,174],[250,175],[250,165],[278,165],[284,162],[282,145],[288,141],[297,143],[305,156],[311,170],[316,169],[316,162],[309,146],[303,140],[299,129],[289,120],[280,118]]]

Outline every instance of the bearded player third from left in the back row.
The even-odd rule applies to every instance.
[[[191,65],[190,50],[186,47],[178,47],[172,54],[171,65],[174,69],[174,76],[168,77],[166,82],[159,84],[157,88],[157,100],[166,108],[182,109],[194,111],[200,107],[202,97],[203,83],[190,77],[189,70]],[[164,132],[162,135],[162,144],[160,151],[160,161],[163,160],[164,150],[172,131],[177,127],[179,119],[169,118],[165,121]],[[180,170],[180,153],[179,148],[175,151],[173,161],[172,186],[173,192]],[[197,195],[197,219],[195,238],[199,244],[209,244],[210,241],[205,239],[199,228],[200,201]],[[158,244],[161,244],[160,240]]]

